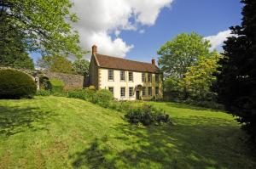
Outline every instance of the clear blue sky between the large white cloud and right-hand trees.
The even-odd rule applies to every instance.
[[[172,8],[163,8],[155,25],[145,27],[145,33],[124,31],[126,42],[134,44],[127,59],[148,61],[166,41],[183,32],[208,37],[241,23],[241,3],[237,0],[177,0]]]

